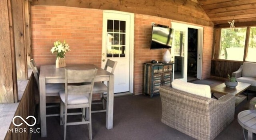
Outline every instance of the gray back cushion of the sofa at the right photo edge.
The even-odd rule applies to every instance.
[[[243,77],[254,77],[256,78],[256,63],[244,62],[242,69]]]

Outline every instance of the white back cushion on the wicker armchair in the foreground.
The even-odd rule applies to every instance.
[[[208,85],[194,84],[194,83],[184,82],[179,79],[175,79],[172,81],[172,88],[177,90],[182,90],[184,92],[212,98],[211,88]]]

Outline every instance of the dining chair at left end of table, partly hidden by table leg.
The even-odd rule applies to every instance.
[[[36,84],[37,84],[37,87],[38,87],[38,92],[40,92],[40,86],[39,86],[39,71],[37,69],[37,66],[36,66],[36,63],[34,61],[34,59],[31,59],[30,60],[30,67],[33,71],[33,74],[34,74],[34,77],[36,79]],[[65,86],[64,84],[46,84],[46,89],[45,89],[45,92],[46,92],[46,96],[59,96],[59,92],[61,90],[64,90],[65,89]],[[39,93],[40,95],[40,93]],[[49,103],[49,102],[48,102]],[[40,100],[39,100],[39,103],[40,104]],[[53,108],[53,107],[59,107],[60,104],[57,104],[57,105],[46,105],[46,108]],[[59,116],[60,114],[46,114],[46,117],[52,117],[52,116]],[[40,123],[40,108],[38,108],[38,120],[37,120],[38,124]]]

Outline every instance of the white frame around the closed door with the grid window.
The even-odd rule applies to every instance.
[[[133,80],[134,80],[134,13],[129,12],[121,12],[116,10],[103,10],[104,13],[114,13],[114,14],[125,14],[130,16],[130,55],[129,55],[129,92],[133,93]],[[103,17],[104,18],[104,17]],[[103,22],[103,20],[102,20]],[[102,23],[102,32],[105,28]],[[106,44],[106,34],[102,33],[102,46],[105,46]],[[103,50],[102,50],[103,51]],[[104,52],[102,52],[104,53]]]

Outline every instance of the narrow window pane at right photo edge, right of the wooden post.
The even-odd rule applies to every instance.
[[[251,27],[246,61],[256,62],[256,27]]]

